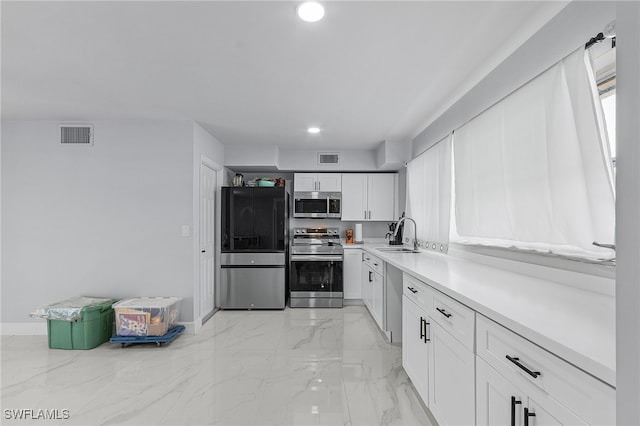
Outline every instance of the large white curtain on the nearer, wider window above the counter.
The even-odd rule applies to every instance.
[[[615,196],[585,55],[577,50],[455,131],[452,239],[615,256],[592,245],[614,243]]]

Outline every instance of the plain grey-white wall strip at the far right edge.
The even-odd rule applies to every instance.
[[[617,10],[617,423],[640,424],[640,3]]]

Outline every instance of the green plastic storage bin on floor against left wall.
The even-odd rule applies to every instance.
[[[108,342],[113,333],[113,309],[115,300],[81,310],[79,321],[47,320],[49,348],[93,349]]]

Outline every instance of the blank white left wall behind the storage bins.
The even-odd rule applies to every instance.
[[[147,295],[183,297],[190,321],[193,123],[93,124],[81,147],[60,145],[55,121],[2,123],[1,320],[75,295]]]

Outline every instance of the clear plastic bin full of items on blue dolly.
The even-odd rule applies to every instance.
[[[176,325],[180,297],[138,297],[113,305],[118,336],[163,336]]]

